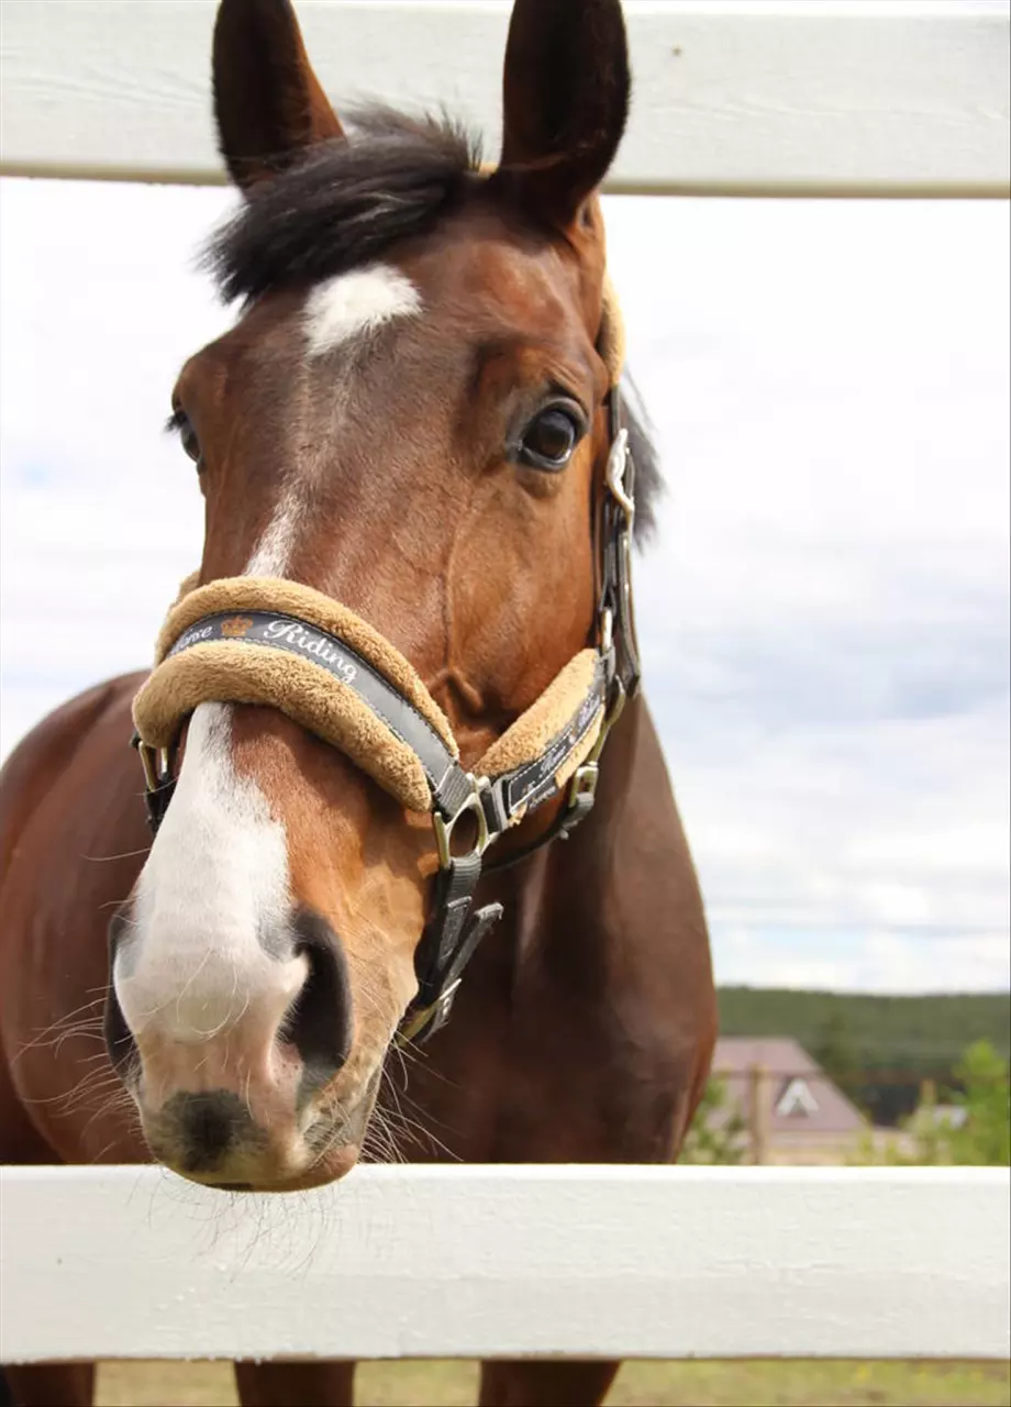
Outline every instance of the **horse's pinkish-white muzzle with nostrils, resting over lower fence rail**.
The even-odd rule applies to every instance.
[[[162,971],[125,912],[110,926],[105,1043],[160,1162],[212,1186],[292,1190],[357,1161],[378,1064],[353,1052],[340,943],[297,913],[246,971]],[[381,1057],[380,1057],[381,1061]]]

